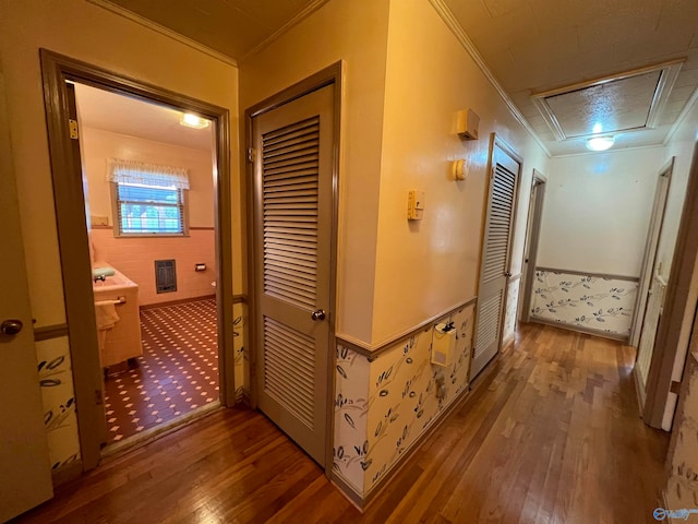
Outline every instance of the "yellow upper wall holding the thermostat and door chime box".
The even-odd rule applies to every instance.
[[[480,116],[480,140],[471,142],[454,124],[468,108]],[[520,266],[528,188],[545,155],[429,2],[392,1],[372,344],[477,295],[492,132],[525,159],[514,249]],[[452,179],[457,158],[467,159],[465,181]],[[410,189],[425,192],[419,223],[407,221]]]

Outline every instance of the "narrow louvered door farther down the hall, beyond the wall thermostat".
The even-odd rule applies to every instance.
[[[495,141],[492,150],[492,171],[488,196],[480,285],[476,347],[470,366],[474,378],[500,350],[502,324],[509,273],[509,251],[514,229],[516,190],[520,164]]]

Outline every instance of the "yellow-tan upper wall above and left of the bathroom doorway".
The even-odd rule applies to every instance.
[[[7,85],[29,294],[37,327],[65,321],[39,48],[228,108],[234,172],[238,166],[238,70],[234,67],[81,0],[0,1],[0,61]],[[233,177],[236,195],[239,194],[237,183],[238,177]],[[240,253],[239,223],[240,209],[236,204],[236,253]],[[238,263],[236,283],[241,282],[241,263]]]

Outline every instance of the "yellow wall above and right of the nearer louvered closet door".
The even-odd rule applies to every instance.
[[[370,341],[388,0],[333,0],[240,64],[240,112],[345,61],[337,331]]]

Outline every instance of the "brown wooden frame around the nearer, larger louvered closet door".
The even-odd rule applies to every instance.
[[[332,444],[334,438],[334,397],[335,397],[335,357],[336,357],[336,325],[337,325],[337,231],[338,231],[338,218],[339,218],[339,170],[340,170],[340,123],[341,123],[341,98],[342,98],[342,80],[344,80],[344,61],[337,61],[332,66],[308,76],[304,80],[280,91],[279,93],[265,98],[264,100],[255,104],[254,106],[245,109],[244,111],[244,135],[245,135],[245,160],[244,170],[245,177],[245,193],[248,215],[254,210],[254,163],[252,145],[254,136],[252,134],[252,120],[254,117],[263,115],[272,109],[275,109],[284,104],[288,104],[297,98],[302,97],[313,91],[317,91],[327,85],[334,84],[334,108],[333,108],[333,124],[335,127],[334,144],[333,144],[333,182],[332,182],[332,198],[333,198],[333,211],[332,211],[332,225],[330,225],[330,267],[329,267],[329,314],[327,315],[327,322],[329,323],[329,337],[327,341],[327,350],[329,352],[327,358],[327,394],[329,395],[327,402],[326,412],[326,453],[325,453],[325,475],[329,477],[332,473]],[[249,291],[249,326],[250,326],[250,403],[253,408],[257,407],[257,388],[260,384],[256,380],[256,348],[260,346],[260,326],[257,325],[257,318],[260,314],[260,301],[255,295],[257,289],[256,284],[260,278],[258,275],[258,261],[256,260],[255,250],[253,249],[255,238],[254,221],[248,217],[246,224],[246,251],[248,251],[248,289]]]

